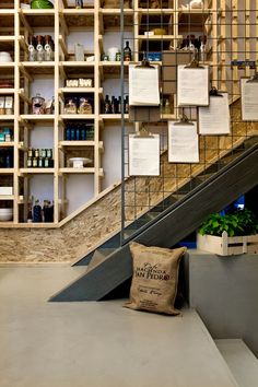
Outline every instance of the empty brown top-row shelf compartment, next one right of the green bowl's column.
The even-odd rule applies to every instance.
[[[68,28],[94,27],[94,9],[63,9],[61,15]]]

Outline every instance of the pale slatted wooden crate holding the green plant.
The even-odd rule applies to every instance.
[[[238,254],[258,254],[258,234],[246,236],[228,236],[224,231],[222,236],[197,235],[197,248],[220,256]]]

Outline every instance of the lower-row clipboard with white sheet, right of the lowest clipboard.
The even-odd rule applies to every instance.
[[[196,122],[168,121],[168,162],[199,162],[199,140]]]

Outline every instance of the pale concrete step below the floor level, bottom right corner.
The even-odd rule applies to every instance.
[[[257,387],[258,360],[241,339],[215,340],[239,387]]]

